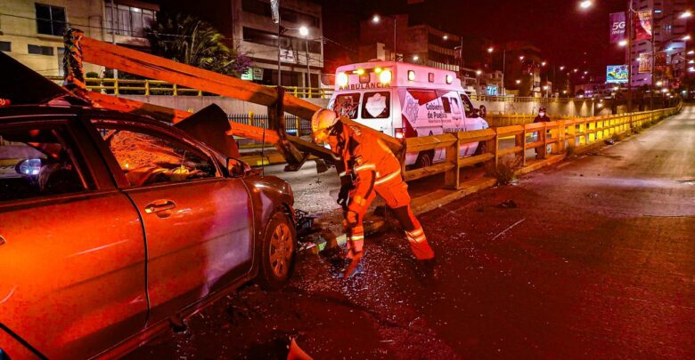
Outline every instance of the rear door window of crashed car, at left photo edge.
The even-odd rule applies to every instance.
[[[68,133],[58,127],[0,127],[0,202],[86,190]]]

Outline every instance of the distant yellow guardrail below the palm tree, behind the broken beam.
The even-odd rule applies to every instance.
[[[61,76],[47,76],[58,84],[62,84]],[[168,95],[168,96],[203,96],[206,92],[192,89],[161,80],[151,79],[115,79],[87,77],[85,79],[87,89],[95,92],[105,92],[114,95]],[[268,86],[274,87],[274,86]],[[333,94],[331,88],[283,86],[285,92],[298,98],[305,99],[329,99]],[[217,95],[216,95],[217,96]]]

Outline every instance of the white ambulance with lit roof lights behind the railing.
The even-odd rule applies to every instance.
[[[396,61],[370,61],[336,70],[328,108],[397,139],[487,129],[454,71]],[[464,144],[461,156],[484,144]],[[444,161],[444,148],[408,153],[405,164],[425,167]]]

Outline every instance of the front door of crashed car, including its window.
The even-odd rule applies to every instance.
[[[143,218],[148,323],[249,273],[253,214],[241,179],[225,178],[207,149],[174,129],[102,119],[94,124]]]

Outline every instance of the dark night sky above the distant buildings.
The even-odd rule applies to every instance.
[[[373,13],[411,12],[435,28],[455,34],[484,36],[495,43],[525,40],[538,46],[545,59],[568,68],[605,73],[606,65],[624,63],[624,51],[609,44],[609,13],[624,11],[626,0],[597,0],[588,11],[577,0],[324,0],[324,35],[357,49],[358,21]],[[416,15],[418,16],[418,15]],[[326,46],[327,60],[347,53]],[[329,64],[326,64],[330,66]]]

